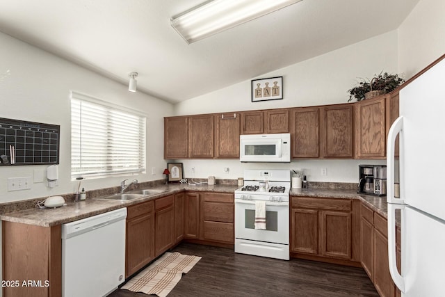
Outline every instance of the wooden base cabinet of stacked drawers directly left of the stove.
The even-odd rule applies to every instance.
[[[234,244],[234,194],[203,193],[200,208],[200,239]]]

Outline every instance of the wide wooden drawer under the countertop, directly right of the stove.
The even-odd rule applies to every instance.
[[[350,211],[351,200],[292,197],[292,207],[311,208],[320,210]]]

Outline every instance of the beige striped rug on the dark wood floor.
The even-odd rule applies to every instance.
[[[200,259],[201,257],[181,255],[179,252],[165,252],[121,289],[165,297],[181,280],[182,273],[188,273]]]

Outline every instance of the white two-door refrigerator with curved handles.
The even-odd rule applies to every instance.
[[[389,129],[387,202],[389,271],[405,297],[445,296],[445,60],[400,92]],[[400,138],[400,198],[394,198],[394,143]],[[395,211],[401,209],[401,271]]]

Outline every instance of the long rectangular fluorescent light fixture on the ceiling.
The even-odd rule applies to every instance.
[[[188,43],[207,38],[302,0],[213,0],[173,17],[175,30]]]

